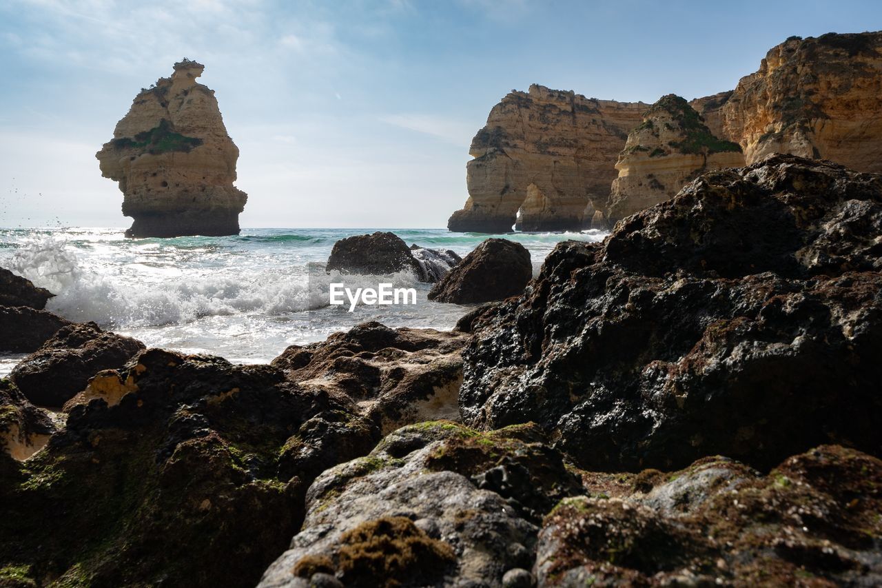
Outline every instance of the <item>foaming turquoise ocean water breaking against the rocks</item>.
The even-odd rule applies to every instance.
[[[246,229],[235,237],[128,239],[121,229],[0,229],[0,266],[56,293],[48,310],[93,320],[148,347],[264,363],[288,345],[323,340],[363,320],[390,327],[452,328],[467,306],[430,302],[429,284],[400,272],[327,275],[325,261],[342,237],[375,229]],[[465,256],[478,233],[392,230],[407,242]],[[565,239],[599,241],[599,231],[502,236],[529,250],[534,273]],[[329,305],[332,282],[415,288],[416,305]],[[0,357],[0,375],[21,356]]]

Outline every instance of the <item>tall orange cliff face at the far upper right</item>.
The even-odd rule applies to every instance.
[[[882,32],[791,37],[728,97],[693,106],[748,164],[778,152],[882,171]]]

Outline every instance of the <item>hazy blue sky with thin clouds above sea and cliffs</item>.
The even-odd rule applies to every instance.
[[[124,227],[94,157],[142,87],[206,64],[243,227],[445,227],[512,89],[716,94],[790,35],[882,29],[836,0],[0,0],[0,227]]]

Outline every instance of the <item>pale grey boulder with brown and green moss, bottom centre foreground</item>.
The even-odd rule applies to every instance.
[[[316,480],[303,529],[259,585],[531,585],[537,525],[582,492],[543,441],[534,427],[445,421],[392,433]]]

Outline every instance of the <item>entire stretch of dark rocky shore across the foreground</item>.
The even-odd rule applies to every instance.
[[[561,243],[452,332],[263,366],[16,280],[0,585],[879,584],[880,236],[882,176],[774,155]]]

